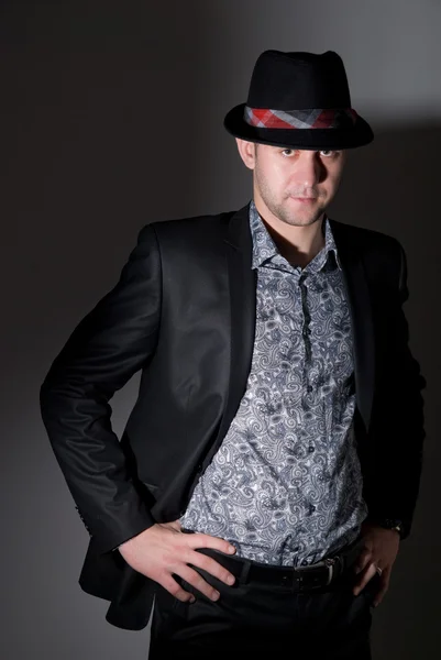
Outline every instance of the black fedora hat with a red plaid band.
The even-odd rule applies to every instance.
[[[344,65],[333,51],[262,53],[247,102],[232,108],[223,125],[250,142],[306,150],[351,148],[374,139],[351,107]]]

